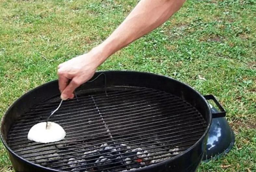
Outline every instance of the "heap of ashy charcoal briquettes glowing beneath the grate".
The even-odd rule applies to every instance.
[[[125,172],[167,160],[177,154],[180,154],[179,147],[166,149],[151,145],[132,148],[126,144],[113,146],[104,143],[100,147],[87,149],[81,157],[70,158],[67,165],[74,172]]]

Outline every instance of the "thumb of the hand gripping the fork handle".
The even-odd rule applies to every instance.
[[[67,85],[67,87],[61,92],[61,99],[62,100],[73,99],[74,98],[73,92],[80,85],[81,84],[76,79],[73,78],[70,81],[70,83]]]

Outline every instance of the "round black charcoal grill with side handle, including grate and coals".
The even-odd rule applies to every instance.
[[[62,141],[27,139],[29,129],[60,103],[57,80],[27,92],[8,109],[1,139],[15,170],[195,171],[212,116],[224,117],[225,112],[212,114],[202,95],[168,77],[134,71],[104,74],[80,86],[77,97],[64,101],[51,117],[67,133]]]

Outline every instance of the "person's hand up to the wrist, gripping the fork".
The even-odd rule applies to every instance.
[[[74,98],[74,90],[91,79],[101,64],[97,53],[89,52],[74,57],[58,66],[61,99]]]

